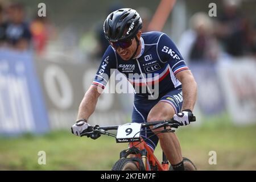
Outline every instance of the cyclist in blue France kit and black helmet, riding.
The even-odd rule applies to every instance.
[[[100,90],[108,82],[110,69],[123,73],[134,88],[146,88],[144,93],[135,93],[132,122],[162,121],[174,117],[180,125],[189,124],[197,95],[195,79],[166,34],[156,31],[142,34],[141,28],[141,17],[133,9],[119,9],[106,18],[104,34],[110,46],[81,101],[77,122],[72,126],[73,134],[80,135],[82,131],[91,130],[87,121],[96,107]],[[131,79],[131,73],[141,77]],[[156,96],[153,96],[150,85],[159,88],[156,90],[159,93],[154,93]],[[150,137],[158,130],[142,131],[141,135],[143,138]],[[184,170],[181,147],[175,133],[158,133],[145,142],[154,151],[158,140],[174,170]]]

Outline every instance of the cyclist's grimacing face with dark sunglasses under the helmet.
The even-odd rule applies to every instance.
[[[141,31],[138,32],[137,38],[138,38],[138,40],[141,38]],[[120,46],[115,48],[115,50],[117,51],[118,55],[123,60],[126,60],[126,61],[131,59],[131,56],[133,56],[133,54],[136,51],[136,49],[137,49],[137,42],[136,42],[135,38],[133,38],[133,40],[131,40],[131,46],[129,46],[127,48],[121,48]]]

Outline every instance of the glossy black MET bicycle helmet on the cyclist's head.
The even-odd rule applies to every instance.
[[[142,26],[142,19],[137,11],[125,8],[110,13],[103,30],[107,40],[117,42],[134,38]]]

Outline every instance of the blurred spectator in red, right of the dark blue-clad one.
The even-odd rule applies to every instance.
[[[43,16],[39,17],[36,14],[35,19],[30,24],[30,30],[32,34],[33,46],[36,53],[40,55],[44,51],[48,39],[49,30],[47,30],[47,18]]]

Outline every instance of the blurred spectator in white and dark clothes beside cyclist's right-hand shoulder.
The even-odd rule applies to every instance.
[[[181,55],[186,61],[214,63],[218,55],[218,43],[213,35],[213,22],[205,13],[196,13],[189,20],[189,30],[179,41]]]

